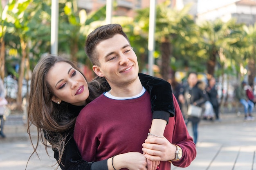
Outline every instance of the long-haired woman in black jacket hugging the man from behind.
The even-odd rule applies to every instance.
[[[62,71],[67,70],[67,72]],[[168,123],[168,118],[174,116],[171,86],[168,82],[145,74],[139,74],[142,85],[150,92],[153,119],[163,119]],[[57,83],[56,79],[58,80]],[[95,78],[87,83],[85,76],[79,71],[75,63],[70,60],[49,55],[40,59],[31,76],[31,90],[28,106],[28,133],[34,124],[38,130],[38,140],[52,146],[54,158],[61,169],[85,170],[111,170],[112,158],[97,162],[82,160],[73,138],[74,124],[81,109],[97,98],[110,87],[103,78]],[[152,125],[151,129],[158,126]],[[166,124],[164,124],[164,127]],[[155,135],[163,135],[160,130]],[[150,135],[152,136],[152,135]],[[32,141],[31,141],[32,142]],[[48,154],[48,153],[47,153]],[[119,161],[118,168],[144,169],[145,157],[138,153],[125,153],[115,156]],[[137,164],[135,163],[138,162]],[[154,162],[152,167],[156,167]],[[117,168],[117,167],[115,167]]]

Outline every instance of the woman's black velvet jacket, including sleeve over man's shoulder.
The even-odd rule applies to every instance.
[[[153,119],[163,119],[168,122],[168,118],[175,115],[171,85],[160,78],[155,78],[141,73],[139,73],[139,79],[141,84],[150,93]],[[68,111],[70,111],[74,117],[78,116],[82,108],[83,106],[78,107],[68,104]],[[59,165],[62,170],[108,170],[107,159],[97,162],[84,161],[74,141],[73,129],[66,133],[69,135],[67,137],[65,150],[61,159],[64,166],[61,164]],[[58,151],[53,151],[54,158],[58,160]]]

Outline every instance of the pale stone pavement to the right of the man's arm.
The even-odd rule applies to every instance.
[[[189,167],[172,170],[256,170],[255,120],[201,124],[198,130],[197,157]]]

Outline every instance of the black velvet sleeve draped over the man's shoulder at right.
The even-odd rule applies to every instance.
[[[170,83],[161,78],[156,78],[146,74],[139,73],[141,84],[150,94],[151,111],[153,119],[159,118],[166,120],[175,115],[173,106],[173,92]]]

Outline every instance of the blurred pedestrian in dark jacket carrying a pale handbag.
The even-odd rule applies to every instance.
[[[207,101],[205,90],[203,91],[198,87],[198,78],[196,72],[190,72],[188,75],[188,87],[186,87],[184,90],[184,98],[184,107],[186,107],[186,110],[188,110],[189,105],[202,107],[202,105]],[[184,116],[186,124],[189,122],[192,123],[193,139],[194,143],[196,144],[198,139],[198,123],[200,122],[200,118],[188,116],[187,111],[184,113],[186,113]]]

